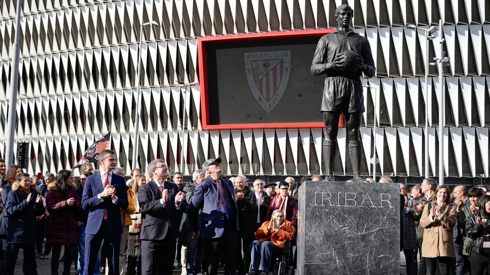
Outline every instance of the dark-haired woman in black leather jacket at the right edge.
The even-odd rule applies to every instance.
[[[476,213],[469,215],[466,221],[466,235],[471,238],[469,261],[471,275],[482,275],[490,268],[490,195],[478,200]]]

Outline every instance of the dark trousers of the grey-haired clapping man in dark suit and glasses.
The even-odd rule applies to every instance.
[[[141,240],[142,274],[172,275],[176,246],[170,228],[163,240]]]

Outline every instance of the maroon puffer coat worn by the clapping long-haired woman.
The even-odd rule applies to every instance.
[[[48,185],[46,206],[49,212],[49,227],[46,236],[51,245],[78,244],[78,214],[82,210],[80,198],[74,186],[67,187],[66,198],[61,198],[59,186],[55,183]],[[75,199],[75,204],[69,206],[66,201]]]

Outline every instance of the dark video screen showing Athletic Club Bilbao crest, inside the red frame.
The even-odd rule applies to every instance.
[[[321,36],[206,44],[208,124],[322,122]]]

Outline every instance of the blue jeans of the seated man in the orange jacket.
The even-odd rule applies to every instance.
[[[269,272],[270,263],[272,259],[281,254],[282,248],[274,245],[270,241],[259,242],[253,241],[250,246],[250,253],[252,258],[252,269]]]

